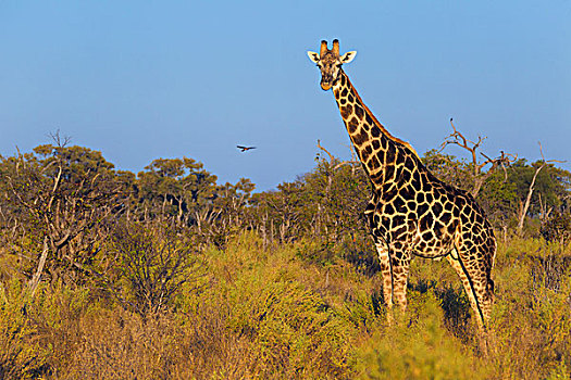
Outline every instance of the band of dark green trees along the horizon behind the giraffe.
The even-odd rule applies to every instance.
[[[482,142],[454,127],[422,162],[470,192],[500,239],[527,235],[564,244],[571,237],[571,173],[545,159],[476,154]],[[449,144],[470,159],[445,153]],[[0,156],[0,279],[23,277],[32,294],[41,280],[99,279],[115,289],[113,279],[127,274],[146,300],[136,307],[159,307],[153,297],[169,294],[169,281],[194,264],[193,252],[224,248],[244,230],[264,245],[311,239],[353,251],[370,246],[362,214],[369,179],[357,160],[342,161],[319,141],[311,172],[262,192],[247,178],[221,185],[189,157],[158,159],[137,174],[117,170],[100,152],[70,145],[59,135],[32,152]]]

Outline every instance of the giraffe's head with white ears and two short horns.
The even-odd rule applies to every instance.
[[[352,61],[356,51],[339,56],[339,40],[333,40],[333,49],[327,49],[327,41],[321,41],[320,53],[308,51],[309,59],[316,63],[321,71],[321,88],[327,91],[339,79],[340,67]]]

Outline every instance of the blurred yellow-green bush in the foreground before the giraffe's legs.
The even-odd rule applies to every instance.
[[[362,379],[486,379],[489,369],[443,326],[434,293],[414,295],[395,326],[373,334],[363,347]]]

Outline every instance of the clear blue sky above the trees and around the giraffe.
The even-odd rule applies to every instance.
[[[571,169],[570,20],[569,0],[0,0],[0,154],[60,129],[120,169],[188,156],[275,188],[314,166],[318,139],[350,156],[306,55],[338,38],[363,101],[417,151],[454,117],[488,155],[534,161],[541,141]]]

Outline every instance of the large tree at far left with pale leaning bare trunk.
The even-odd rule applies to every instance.
[[[104,240],[107,221],[127,193],[100,152],[66,147],[69,140],[59,134],[53,138],[54,145],[1,163],[4,197],[15,205],[22,226],[18,254],[29,263],[23,269],[32,293],[45,273],[51,279],[80,280]]]

